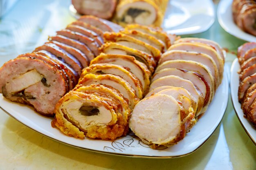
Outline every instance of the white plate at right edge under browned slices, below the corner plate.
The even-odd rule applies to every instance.
[[[239,74],[238,71],[240,65],[238,59],[234,60],[231,66],[231,77],[230,77],[230,92],[232,103],[236,111],[236,115],[242,124],[247,135],[252,139],[253,143],[256,145],[256,128],[254,128],[247,119],[244,117],[243,110],[241,109],[241,104],[238,102],[238,86],[239,86]]]

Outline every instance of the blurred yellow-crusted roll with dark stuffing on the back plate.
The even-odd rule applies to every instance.
[[[114,21],[126,24],[161,26],[168,0],[120,0]]]

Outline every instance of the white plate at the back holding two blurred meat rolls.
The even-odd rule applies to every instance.
[[[73,5],[70,5],[70,12],[77,19],[81,16]],[[214,20],[212,0],[170,0],[162,28],[177,35],[202,33],[211,27]]]

